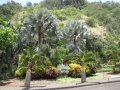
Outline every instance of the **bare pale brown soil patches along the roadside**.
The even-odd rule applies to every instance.
[[[108,75],[117,75],[120,76],[120,71],[116,71],[114,73],[110,73],[110,72],[104,72],[105,77],[107,78]],[[8,80],[1,80],[0,81],[0,86],[24,86],[24,79],[17,79],[17,78],[13,78],[13,79],[8,79]],[[60,82],[60,81],[56,81],[55,79],[51,80],[51,79],[39,79],[39,80],[31,80],[31,85],[35,86],[35,85],[47,85],[47,84],[54,84],[54,83],[65,83],[65,82]]]

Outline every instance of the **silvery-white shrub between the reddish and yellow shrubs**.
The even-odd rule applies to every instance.
[[[69,67],[68,65],[65,65],[65,64],[59,64],[57,66],[57,69],[58,69],[58,73],[60,75],[67,75],[69,73]]]

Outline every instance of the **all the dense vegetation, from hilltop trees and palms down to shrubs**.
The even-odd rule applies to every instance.
[[[33,79],[81,77],[82,67],[91,75],[101,64],[115,72],[119,66],[119,3],[44,0],[21,6],[12,0],[0,5],[0,11],[2,79],[24,78],[28,66]],[[98,26],[105,30],[98,31]]]

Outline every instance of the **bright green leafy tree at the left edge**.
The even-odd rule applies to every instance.
[[[8,47],[12,47],[14,41],[16,39],[16,34],[13,32],[13,29],[10,27],[0,28],[0,76],[1,69],[4,60],[5,51]]]

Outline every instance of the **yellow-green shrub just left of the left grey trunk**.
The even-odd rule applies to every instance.
[[[25,75],[26,75],[26,72],[27,72],[27,67],[21,67],[21,68],[18,68],[17,71],[15,71],[15,76],[16,77],[19,77],[19,78],[24,78]]]

